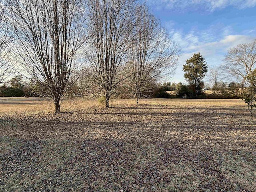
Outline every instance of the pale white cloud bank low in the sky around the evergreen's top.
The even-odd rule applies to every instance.
[[[241,43],[251,42],[255,38],[255,36],[248,35],[246,32],[234,34],[230,26],[217,30],[218,35],[216,35],[214,28],[216,26],[210,26],[202,31],[191,30],[188,33],[184,33],[182,30],[170,30],[172,38],[183,49],[176,74],[171,81],[185,82],[182,66],[185,64],[186,59],[189,59],[194,53],[200,52],[206,59],[208,66],[219,66],[230,48]]]

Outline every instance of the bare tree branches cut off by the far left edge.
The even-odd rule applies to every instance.
[[[3,83],[10,73],[10,64],[7,62],[10,43],[8,25],[8,9],[6,2],[0,1],[0,84]]]

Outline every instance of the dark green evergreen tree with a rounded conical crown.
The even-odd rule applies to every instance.
[[[184,78],[190,83],[194,96],[198,97],[204,87],[202,80],[208,71],[203,56],[200,53],[193,54],[190,59],[186,60],[186,64],[183,65],[183,71],[185,72]]]

